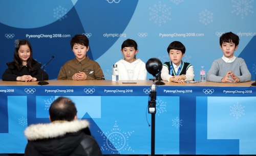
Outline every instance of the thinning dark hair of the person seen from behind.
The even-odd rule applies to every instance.
[[[52,102],[49,109],[51,121],[65,120],[72,121],[76,116],[75,103],[66,97],[58,97]]]

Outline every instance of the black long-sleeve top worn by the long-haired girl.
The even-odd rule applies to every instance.
[[[42,72],[44,72],[44,80],[48,80],[48,74],[45,71],[42,71],[40,68],[42,64],[35,63],[34,69],[35,71],[29,72],[27,66],[23,66],[21,70],[18,70],[16,66],[13,65],[13,62],[6,63],[8,68],[2,75],[3,81],[17,81],[18,76],[23,75],[31,75],[32,77],[36,78],[36,81],[41,81]]]

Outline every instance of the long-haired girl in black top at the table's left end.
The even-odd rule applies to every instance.
[[[28,40],[15,40],[13,62],[7,63],[8,68],[2,75],[3,81],[41,81],[42,72],[44,80],[48,74],[40,68],[42,64],[33,59],[32,46]]]

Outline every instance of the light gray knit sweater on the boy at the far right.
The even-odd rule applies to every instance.
[[[242,58],[236,58],[232,63],[226,63],[221,58],[215,60],[207,73],[207,81],[221,82],[221,79],[230,70],[239,77],[240,82],[251,81],[251,73]]]

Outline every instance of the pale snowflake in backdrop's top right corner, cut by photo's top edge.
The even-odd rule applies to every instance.
[[[251,5],[252,2],[254,0],[232,0],[233,3],[235,3],[234,5],[232,5],[232,7],[234,8],[233,11],[231,11],[231,13],[236,13],[237,15],[241,15],[241,18],[244,19],[244,15],[248,16],[248,13],[253,13],[252,9],[253,6]]]

